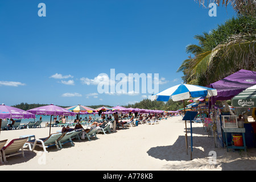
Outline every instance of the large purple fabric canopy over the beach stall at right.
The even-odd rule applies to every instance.
[[[217,96],[213,101],[230,100],[244,89],[256,84],[256,72],[241,69],[240,71],[210,84],[210,88],[217,89]]]

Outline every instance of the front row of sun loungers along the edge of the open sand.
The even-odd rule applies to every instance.
[[[36,122],[35,122],[36,123]],[[36,127],[35,123],[31,122],[28,123],[28,127]],[[146,123],[152,125],[152,123],[159,123],[158,119],[144,119],[142,121],[138,121],[137,123]],[[88,123],[85,123],[86,125]],[[48,152],[48,147],[55,146],[58,150],[63,148],[63,145],[66,143],[70,143],[71,146],[75,146],[75,143],[73,142],[73,139],[85,139],[88,138],[90,141],[92,137],[97,138],[98,133],[111,133],[110,126],[112,125],[112,122],[108,122],[105,127],[91,127],[89,132],[86,133],[84,130],[72,130],[65,133],[54,133],[49,135],[49,137],[46,138],[39,138],[39,139],[30,139],[31,136],[23,136],[19,139],[13,139],[7,146],[5,146],[7,140],[0,141],[0,163],[7,162],[6,158],[13,156],[13,155],[22,155],[24,157],[24,150],[23,147],[28,147],[30,151],[34,151],[36,146],[42,147],[44,152]],[[125,127],[130,126],[133,127],[136,125],[136,121],[133,119],[133,121],[128,121],[125,123]],[[35,137],[34,135],[32,135]]]

